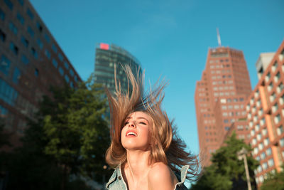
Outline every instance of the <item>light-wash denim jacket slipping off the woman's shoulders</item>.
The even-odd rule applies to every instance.
[[[177,176],[179,182],[175,184],[174,190],[187,190],[187,187],[183,183],[185,182],[188,168],[189,166],[186,165],[180,169],[180,174],[175,173],[175,176]],[[109,179],[109,182],[107,183],[106,187],[109,190],[127,190],[126,183],[121,174],[120,166],[114,169],[114,173]]]

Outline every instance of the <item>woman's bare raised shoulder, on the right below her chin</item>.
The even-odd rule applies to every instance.
[[[149,189],[173,190],[176,181],[178,180],[173,171],[163,162],[153,164],[148,173]]]

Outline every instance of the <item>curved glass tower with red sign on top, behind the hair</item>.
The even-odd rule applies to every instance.
[[[129,65],[135,76],[137,72],[141,75],[142,69],[139,61],[128,51],[114,44],[99,43],[96,48],[94,80],[95,83],[106,86],[111,92],[115,90],[114,65],[116,65],[116,78],[120,81],[124,91],[128,88],[128,81],[121,66]]]

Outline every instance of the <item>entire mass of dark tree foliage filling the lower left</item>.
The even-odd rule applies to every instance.
[[[83,184],[72,176],[86,176],[102,183],[109,147],[107,101],[93,78],[77,89],[51,88],[44,96],[35,120],[21,139],[23,146],[9,154],[7,189],[70,189]],[[70,185],[70,183],[72,183]]]

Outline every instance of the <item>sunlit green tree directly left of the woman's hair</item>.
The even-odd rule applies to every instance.
[[[48,101],[43,130],[48,144],[45,154],[53,157],[62,169],[62,189],[70,174],[82,174],[102,181],[106,164],[104,153],[109,146],[107,100],[101,85],[89,78],[77,90],[54,89]],[[52,103],[50,103],[52,102]]]

